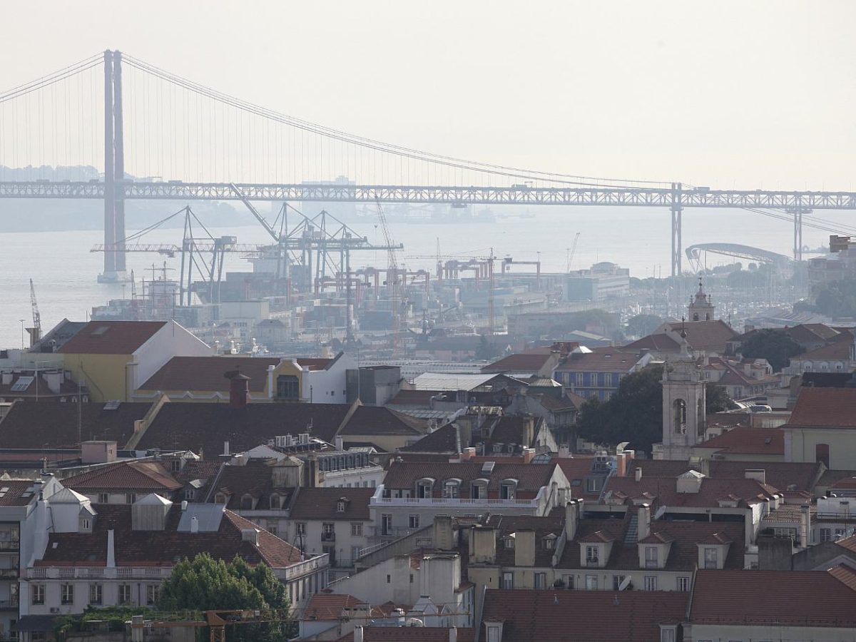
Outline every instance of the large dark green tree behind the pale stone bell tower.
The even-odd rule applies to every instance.
[[[651,445],[663,441],[663,366],[652,366],[621,379],[609,401],[591,397],[580,407],[577,434],[595,443],[629,442],[630,447],[651,453]],[[725,389],[708,383],[705,411],[718,413],[736,407]]]

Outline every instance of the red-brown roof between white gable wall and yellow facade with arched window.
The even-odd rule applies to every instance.
[[[173,357],[155,372],[140,390],[229,392],[226,372],[239,370],[250,377],[250,392],[264,392],[267,371],[280,360],[261,357]]]

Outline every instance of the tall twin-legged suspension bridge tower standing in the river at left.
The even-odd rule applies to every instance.
[[[122,52],[104,51],[104,272],[98,282],[128,280],[125,270],[125,149]]]

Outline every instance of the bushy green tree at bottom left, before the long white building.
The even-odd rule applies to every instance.
[[[158,609],[163,611],[253,609],[271,618],[284,618],[291,605],[285,587],[264,564],[250,567],[240,557],[232,562],[199,553],[175,565],[163,582]],[[227,627],[230,640],[273,642],[287,639],[290,627],[280,623]]]

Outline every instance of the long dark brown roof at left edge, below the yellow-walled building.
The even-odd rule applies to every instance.
[[[121,403],[113,410],[104,403],[80,407],[80,437],[110,439],[122,448],[134,434],[134,421],[143,419],[151,403]],[[78,448],[77,403],[15,403],[0,420],[0,448]]]

